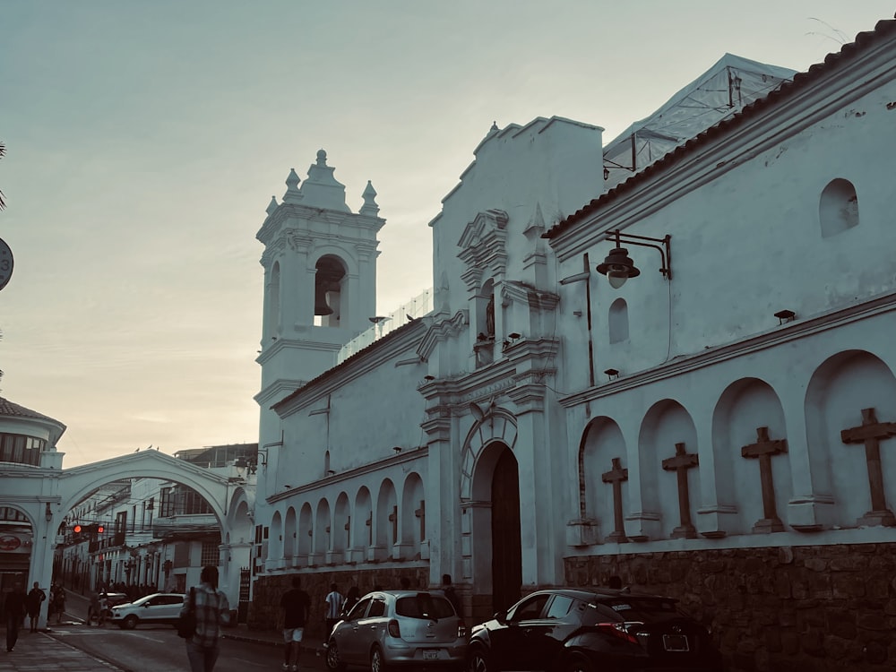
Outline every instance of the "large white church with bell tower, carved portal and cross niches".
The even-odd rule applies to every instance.
[[[388,332],[373,187],[353,212],[324,151],[290,172],[250,625],[297,572],[322,601],[450,573],[474,623],[616,574],[733,669],[896,663],[896,22],[766,67],[650,162],[656,129],[626,164],[597,125],[493,126],[429,222],[431,308]]]

